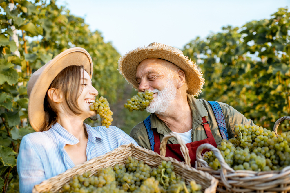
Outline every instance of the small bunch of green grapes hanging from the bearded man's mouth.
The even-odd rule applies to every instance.
[[[137,95],[134,95],[131,99],[127,99],[127,103],[124,104],[124,107],[127,108],[130,112],[133,110],[144,111],[144,109],[149,106],[153,97],[153,92],[145,91],[144,93],[138,92]]]

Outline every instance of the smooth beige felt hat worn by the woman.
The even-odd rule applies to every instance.
[[[64,68],[72,65],[84,66],[84,69],[92,78],[92,58],[85,49],[80,47],[70,48],[61,52],[30,77],[27,85],[29,98],[28,117],[34,130],[39,131],[44,120],[43,102],[51,82]]]

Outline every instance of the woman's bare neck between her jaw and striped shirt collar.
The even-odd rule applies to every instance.
[[[75,114],[58,113],[57,123],[59,123],[68,132],[73,134],[79,141],[86,138],[84,132],[84,119]]]

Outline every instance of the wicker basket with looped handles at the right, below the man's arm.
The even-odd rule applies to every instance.
[[[278,119],[274,125],[273,131],[277,134],[279,124],[284,120],[290,120],[290,117]],[[278,134],[277,134],[278,135]],[[218,158],[221,169],[213,170],[201,155],[203,149],[213,151]],[[281,171],[255,172],[247,170],[233,170],[224,161],[220,151],[211,144],[202,144],[197,148],[195,168],[208,172],[219,180],[218,192],[281,192],[286,193],[290,190],[290,166]]]

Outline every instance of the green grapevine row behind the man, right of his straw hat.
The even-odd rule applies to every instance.
[[[223,27],[185,45],[184,55],[199,64],[206,79],[200,98],[225,102],[265,128],[289,116],[289,16],[287,8],[279,8],[270,19]]]

